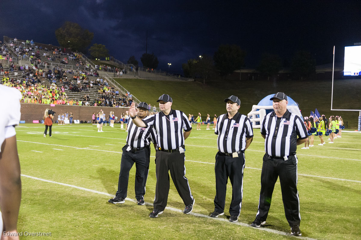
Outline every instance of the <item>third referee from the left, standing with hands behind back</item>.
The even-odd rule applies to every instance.
[[[243,170],[245,165],[244,150],[252,142],[253,130],[248,117],[238,112],[241,101],[235,95],[225,99],[227,113],[217,119],[218,135],[216,154],[216,197],[214,212],[210,217],[224,214],[228,178],[232,184],[232,201],[229,207],[230,222],[237,222],[243,197]]]

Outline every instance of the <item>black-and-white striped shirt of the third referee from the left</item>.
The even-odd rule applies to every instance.
[[[228,113],[219,116],[214,133],[218,135],[218,150],[227,154],[244,151],[246,137],[253,137],[251,121],[238,112],[231,119],[228,118]]]

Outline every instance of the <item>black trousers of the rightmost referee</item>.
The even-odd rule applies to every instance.
[[[279,177],[282,191],[284,213],[290,226],[300,225],[300,199],[297,191],[297,156],[292,155],[286,161],[274,159],[267,154],[263,157],[261,173],[261,193],[257,219],[266,221],[271,206],[274,185]]]

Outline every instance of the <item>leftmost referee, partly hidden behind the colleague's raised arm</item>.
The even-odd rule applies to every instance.
[[[144,119],[148,113],[148,104],[138,105],[138,118]],[[126,145],[122,148],[122,160],[118,179],[118,191],[109,203],[124,203],[127,197],[129,171],[135,163],[135,197],[138,205],[144,205],[145,183],[149,172],[151,148],[149,144],[156,142],[155,132],[151,127],[138,127],[132,121],[128,124]]]

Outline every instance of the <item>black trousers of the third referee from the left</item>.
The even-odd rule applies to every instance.
[[[214,211],[223,213],[226,203],[228,178],[232,185],[232,201],[229,207],[231,216],[239,216],[243,198],[243,170],[245,165],[244,154],[238,157],[216,154],[216,197],[214,197]]]

